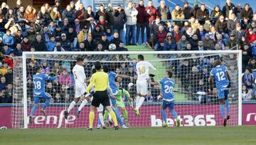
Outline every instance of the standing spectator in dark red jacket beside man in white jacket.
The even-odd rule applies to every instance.
[[[144,1],[140,0],[139,5],[137,6],[137,33],[136,33],[136,42],[139,45],[139,34],[141,35],[142,45],[144,45],[144,30],[145,30],[145,23],[146,23],[146,11],[144,6]]]

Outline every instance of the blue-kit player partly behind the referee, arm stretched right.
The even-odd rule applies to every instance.
[[[115,85],[115,82],[114,82],[114,79],[117,78],[117,77],[122,77],[122,78],[130,78],[129,76],[127,75],[124,75],[124,74],[116,74],[114,73],[113,71],[110,71],[108,66],[103,66],[103,71],[105,73],[107,73],[107,75],[109,76],[109,84],[110,84],[110,88],[112,89],[112,92],[114,94],[114,96],[117,95],[119,89],[117,88],[117,86]],[[121,113],[119,111],[119,109],[117,108],[116,104],[117,104],[117,98],[112,98],[110,97],[110,100],[111,100],[111,103],[112,103],[112,108],[114,110],[114,112],[117,114],[117,121],[122,125],[122,128],[128,128],[124,125],[124,122],[122,121],[122,118],[121,118]],[[108,115],[108,112],[106,111],[105,112],[105,118],[107,117]]]

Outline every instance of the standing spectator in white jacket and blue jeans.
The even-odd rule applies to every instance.
[[[125,9],[125,14],[127,16],[125,35],[126,45],[135,45],[135,26],[137,24],[138,11],[132,6],[132,1],[129,1],[128,7]]]

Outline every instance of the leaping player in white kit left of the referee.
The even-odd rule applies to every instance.
[[[75,107],[75,104],[78,103],[80,98],[82,97],[82,94],[86,90],[86,76],[85,76],[85,69],[82,66],[83,59],[78,57],[77,62],[75,66],[73,67],[73,74],[75,78],[75,99],[70,103],[70,106],[68,107],[68,110],[65,110],[64,115],[65,119],[68,120],[68,113],[72,108]],[[82,103],[80,107],[77,110],[77,116],[79,117],[80,110],[86,105],[87,100],[83,98]]]

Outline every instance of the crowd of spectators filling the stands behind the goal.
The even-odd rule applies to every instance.
[[[244,100],[255,98],[256,14],[253,13],[250,4],[245,4],[242,8],[227,0],[223,8],[217,5],[213,11],[209,11],[204,4],[191,7],[185,1],[183,6],[176,5],[174,10],[170,11],[164,1],[156,8],[152,1],[144,4],[141,0],[139,4],[130,1],[126,8],[101,4],[97,11],[92,11],[92,6],[85,8],[82,3],[76,9],[74,1],[70,1],[68,6],[62,8],[60,1],[55,0],[54,6],[43,4],[37,11],[33,6],[24,6],[21,0],[17,0],[15,8],[9,8],[4,2],[1,4],[0,31],[0,103],[12,101],[12,59],[21,57],[22,52],[110,51],[110,44],[116,45],[116,51],[127,51],[125,45],[146,45],[156,51],[238,48],[242,50],[242,71],[245,71],[242,75],[242,96]],[[170,58],[169,55],[158,57]],[[229,56],[229,59],[234,57]],[[75,59],[75,56],[72,58]],[[31,59],[31,62],[28,62],[28,83],[31,84],[28,85],[29,102],[33,100],[31,79],[36,66],[41,66],[46,74],[59,76],[58,80],[48,82],[46,86],[46,91],[54,96],[55,103],[72,100],[74,81],[71,70],[75,62],[70,63],[64,59],[68,58],[63,57],[60,61]],[[85,56],[87,78],[91,74],[92,59],[95,57]],[[132,89],[129,83],[136,79],[136,59],[130,59],[127,55],[97,59],[128,61],[129,63],[108,65],[112,66],[111,69],[117,74],[132,76],[132,80],[117,78],[122,87]],[[207,92],[207,78],[215,59],[211,57],[202,60],[195,57],[184,59],[182,62],[171,61],[166,64],[166,68],[175,71],[184,89],[189,88],[193,93]],[[237,73],[234,64],[228,67],[233,73]],[[196,82],[195,77],[199,78]],[[148,100],[159,99],[159,92],[157,86],[152,88]],[[188,99],[196,98],[191,96]]]

